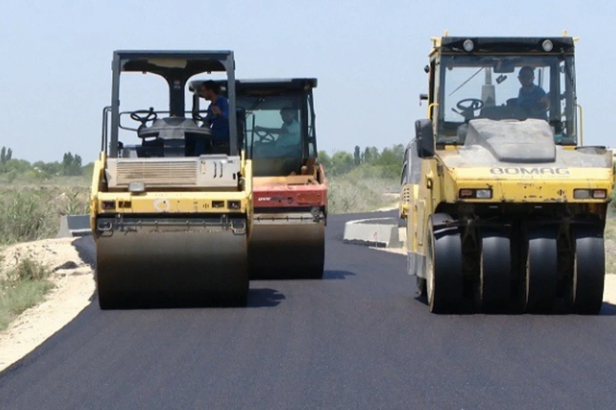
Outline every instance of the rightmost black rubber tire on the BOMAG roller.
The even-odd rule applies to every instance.
[[[569,283],[568,306],[573,313],[598,315],[603,306],[606,253],[602,230],[582,227],[572,231],[575,259]]]

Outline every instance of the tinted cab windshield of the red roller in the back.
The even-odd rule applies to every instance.
[[[246,148],[251,157],[301,157],[302,124],[299,95],[238,95],[246,110]]]

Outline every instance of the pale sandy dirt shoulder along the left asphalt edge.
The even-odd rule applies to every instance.
[[[0,333],[0,371],[43,343],[78,315],[92,299],[92,245],[89,239],[47,239],[20,243],[4,250],[0,272],[8,272],[23,259],[44,264],[55,287],[43,302],[31,307]]]

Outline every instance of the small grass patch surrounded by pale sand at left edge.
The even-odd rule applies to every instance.
[[[20,313],[36,306],[54,288],[48,280],[50,273],[40,262],[23,259],[0,279],[0,331]]]

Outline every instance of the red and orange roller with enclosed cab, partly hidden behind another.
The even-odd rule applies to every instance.
[[[225,92],[227,82],[219,84]],[[194,81],[190,89],[199,85]],[[314,78],[238,79],[235,84],[253,164],[248,245],[253,280],[323,277],[327,180],[317,164],[315,87]]]

